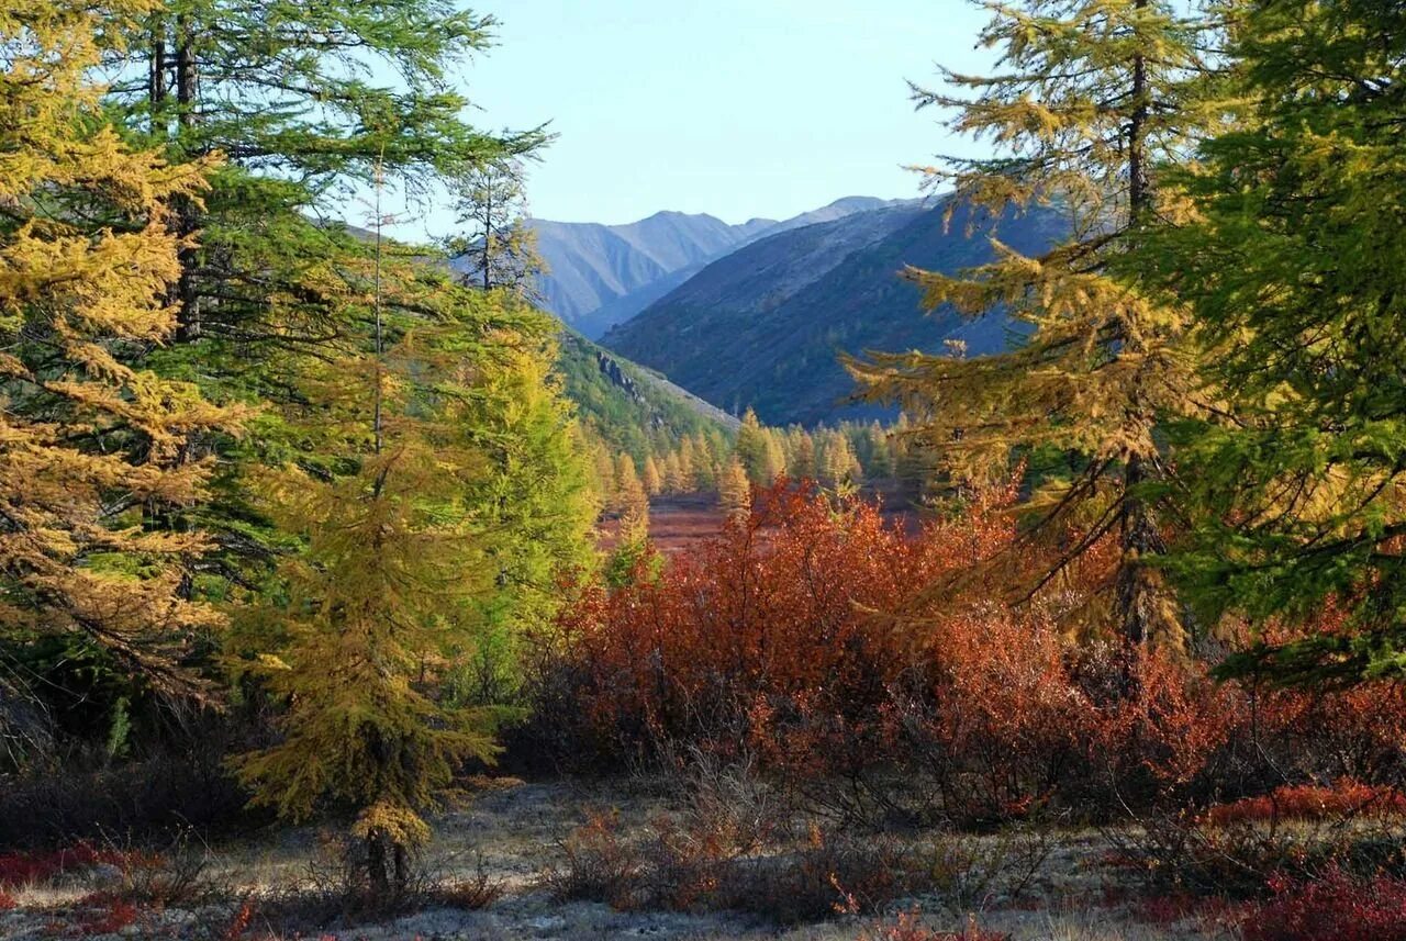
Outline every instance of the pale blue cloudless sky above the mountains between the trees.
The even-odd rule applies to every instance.
[[[463,76],[477,122],[550,121],[560,135],[530,167],[531,212],[547,219],[679,209],[742,222],[845,195],[917,195],[903,166],[960,145],[914,112],[904,80],[988,55],[973,51],[987,15],[965,0],[471,6],[501,21],[498,46]]]

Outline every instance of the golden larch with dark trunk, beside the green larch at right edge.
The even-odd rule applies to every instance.
[[[1116,534],[1122,556],[1114,619],[1130,643],[1184,645],[1181,612],[1161,572],[1157,507],[1167,473],[1154,431],[1201,410],[1185,312],[1149,298],[1118,261],[1142,232],[1177,212],[1159,198],[1157,167],[1177,163],[1220,111],[1202,46],[1213,22],[1167,0],[981,3],[981,42],[997,72],[945,70],[956,91],[914,87],[920,107],[952,114],[946,126],[988,140],[990,157],[949,157],[925,169],[950,184],[948,221],[994,223],[1053,205],[1069,235],[1038,257],[993,237],[995,260],[949,275],[911,268],[929,310],[1002,310],[1025,338],[1010,353],[872,354],[848,360],[873,400],[898,402],[915,445],[959,480],[1004,473],[1014,448],[1074,452],[1084,472],[1036,501],[1042,531],[1073,528],[1062,566]],[[965,93],[965,94],[963,94]],[[1050,573],[1053,574],[1053,573]]]

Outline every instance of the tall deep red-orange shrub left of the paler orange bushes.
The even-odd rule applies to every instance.
[[[562,624],[576,701],[607,750],[766,746],[814,711],[868,726],[920,663],[886,614],[983,551],[976,527],[950,531],[910,539],[872,506],[779,486],[657,579],[585,593]]]

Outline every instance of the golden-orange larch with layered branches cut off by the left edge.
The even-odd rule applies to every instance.
[[[0,657],[38,638],[96,645],[159,692],[202,697],[193,640],[221,624],[193,588],[209,542],[170,525],[211,466],[191,437],[240,414],[143,368],[215,157],[125,146],[98,108],[96,37],[145,0],[0,8]],[[22,676],[17,673],[17,676]]]

